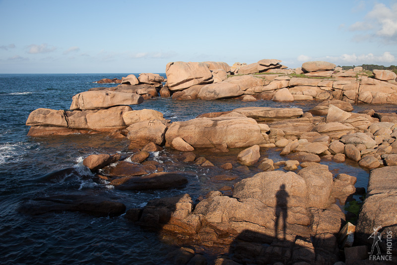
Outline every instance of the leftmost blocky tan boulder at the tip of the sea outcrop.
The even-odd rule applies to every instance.
[[[50,108],[38,108],[29,114],[29,117],[26,120],[26,125],[67,127],[65,111]]]

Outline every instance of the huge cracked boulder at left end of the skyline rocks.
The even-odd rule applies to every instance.
[[[209,84],[213,81],[211,71],[205,63],[171,62],[167,64],[165,74],[171,91]]]

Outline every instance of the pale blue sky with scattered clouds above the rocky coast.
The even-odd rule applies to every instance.
[[[0,74],[397,65],[397,0],[0,0]]]

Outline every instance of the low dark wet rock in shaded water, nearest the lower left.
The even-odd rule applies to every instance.
[[[47,212],[82,212],[94,216],[116,216],[126,211],[126,206],[104,196],[87,195],[83,193],[57,194],[38,197],[23,202],[20,213],[39,215]]]

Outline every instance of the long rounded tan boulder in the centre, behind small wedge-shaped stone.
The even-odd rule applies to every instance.
[[[176,137],[181,137],[194,148],[213,148],[222,144],[239,148],[265,143],[258,123],[246,117],[223,116],[173,122],[165,134],[166,146],[170,146]]]

